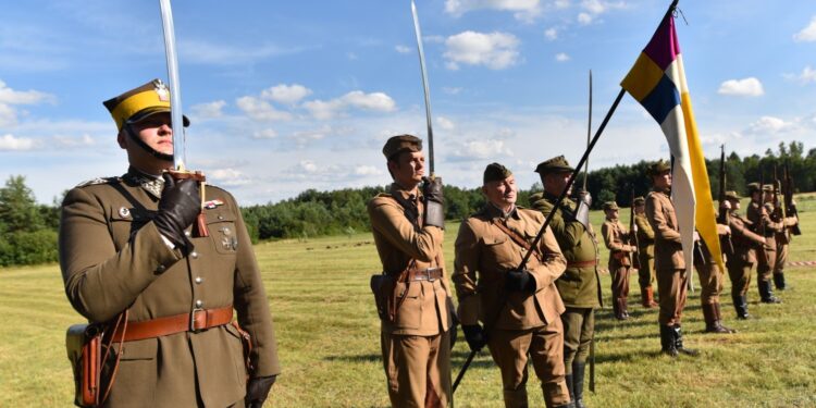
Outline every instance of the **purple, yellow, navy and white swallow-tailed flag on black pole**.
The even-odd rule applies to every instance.
[[[694,122],[671,13],[666,14],[620,85],[660,125],[675,159],[671,200],[682,235],[687,271],[693,264],[695,226],[714,260],[725,271],[708,171]]]

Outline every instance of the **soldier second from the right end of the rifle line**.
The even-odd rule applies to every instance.
[[[774,271],[774,262],[777,258],[777,244],[775,235],[782,231],[783,224],[775,222],[770,218],[774,205],[768,202],[772,199],[772,187],[768,184],[759,186],[757,183],[749,184],[751,191],[751,203],[747,209],[747,218],[754,225],[754,232],[765,237],[764,249],[758,250],[756,264],[756,287],[763,304],[779,304],[782,300],[774,296],[770,279]],[[767,198],[766,198],[767,197]]]

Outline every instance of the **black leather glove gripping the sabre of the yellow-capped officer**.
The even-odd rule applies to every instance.
[[[164,189],[159,200],[159,211],[153,224],[159,233],[176,247],[188,249],[191,246],[184,230],[190,226],[201,212],[201,194],[198,182],[189,178],[175,181],[164,173]]]

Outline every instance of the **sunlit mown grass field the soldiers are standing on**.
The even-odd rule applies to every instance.
[[[802,231],[791,260],[816,260],[816,195],[800,196]],[[621,210],[622,222],[629,212]],[[594,212],[599,230],[603,214]],[[450,270],[458,224],[448,225],[445,259]],[[256,247],[275,319],[283,374],[268,406],[387,406],[380,362],[379,321],[368,289],[380,271],[370,234],[263,243]],[[607,251],[602,250],[605,257]],[[606,260],[603,260],[606,264]],[[597,393],[592,407],[814,407],[816,406],[816,271],[789,268],[792,289],[781,305],[757,304],[754,319],[737,321],[726,277],[722,311],[732,335],[704,334],[698,292],[684,313],[687,346],[698,358],[659,354],[657,313],[638,306],[632,276],[630,314],[617,322],[597,314]],[[696,281],[696,277],[695,277]],[[696,282],[695,282],[696,284]],[[609,276],[603,276],[608,305]],[[64,332],[82,318],[71,309],[55,264],[0,270],[0,407],[70,407],[73,385]],[[454,375],[468,354],[463,338],[453,354]],[[589,373],[589,371],[588,371]],[[543,407],[537,381],[530,403]],[[500,407],[498,370],[486,353],[474,360],[456,394],[457,407]]]

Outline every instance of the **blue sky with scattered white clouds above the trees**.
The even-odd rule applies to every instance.
[[[417,0],[435,172],[475,187],[491,162],[519,185],[586,145],[665,0]],[[816,2],[683,0],[677,32],[703,149],[816,148]],[[187,164],[242,205],[391,182],[381,149],[426,136],[410,0],[173,1]],[[51,203],[123,174],[102,101],[166,81],[158,1],[7,2],[0,16],[0,180]],[[630,96],[590,170],[668,158]]]

